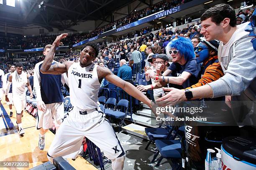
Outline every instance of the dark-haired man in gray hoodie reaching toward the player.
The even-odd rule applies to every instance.
[[[220,15],[225,15],[221,16]],[[217,20],[216,20],[216,16]],[[218,39],[218,57],[225,73],[220,79],[207,85],[189,89],[193,99],[203,97],[233,96],[233,101],[242,101],[236,110],[243,115],[238,122],[243,125],[255,125],[255,101],[256,101],[256,51],[253,50],[249,32],[245,31],[247,23],[236,26],[235,11],[230,5],[219,4],[206,10],[201,16],[203,34],[207,41]],[[156,101],[169,101],[174,104],[187,100],[184,90],[163,88],[170,91],[164,97]],[[244,102],[248,101],[248,102]],[[246,112],[244,112],[246,108]],[[234,110],[234,109],[233,109]],[[237,113],[238,114],[238,113]],[[241,118],[243,117],[243,118]],[[248,120],[247,122],[244,122]]]

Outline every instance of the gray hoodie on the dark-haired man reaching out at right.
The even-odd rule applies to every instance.
[[[218,56],[225,75],[208,85],[213,97],[232,96],[231,109],[238,125],[256,125],[256,51],[251,44],[253,37],[244,31],[246,25],[242,24],[235,32],[238,38],[230,46],[228,56],[220,55],[223,50],[220,43]]]

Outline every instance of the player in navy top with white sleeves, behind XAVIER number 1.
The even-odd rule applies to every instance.
[[[47,55],[51,45],[44,47],[44,55]],[[37,100],[36,129],[39,129],[38,147],[44,150],[44,134],[52,128],[53,118],[56,130],[64,119],[64,105],[61,92],[61,82],[65,84],[66,73],[62,75],[42,74],[39,70],[43,61],[38,62],[34,70],[34,89]],[[53,60],[52,64],[57,63]]]

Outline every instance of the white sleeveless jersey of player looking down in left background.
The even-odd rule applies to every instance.
[[[25,72],[21,72],[20,75],[18,75],[17,71],[15,70],[12,73],[12,84],[13,84],[13,95],[24,95],[26,96],[26,83],[28,83],[27,74]]]

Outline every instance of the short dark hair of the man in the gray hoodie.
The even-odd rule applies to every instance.
[[[220,25],[220,22],[223,21],[224,18],[229,18],[229,25],[231,27],[236,26],[236,12],[233,7],[228,4],[218,4],[209,8],[202,14],[200,19],[201,21],[204,21],[208,18],[211,18],[212,22],[216,25]]]

